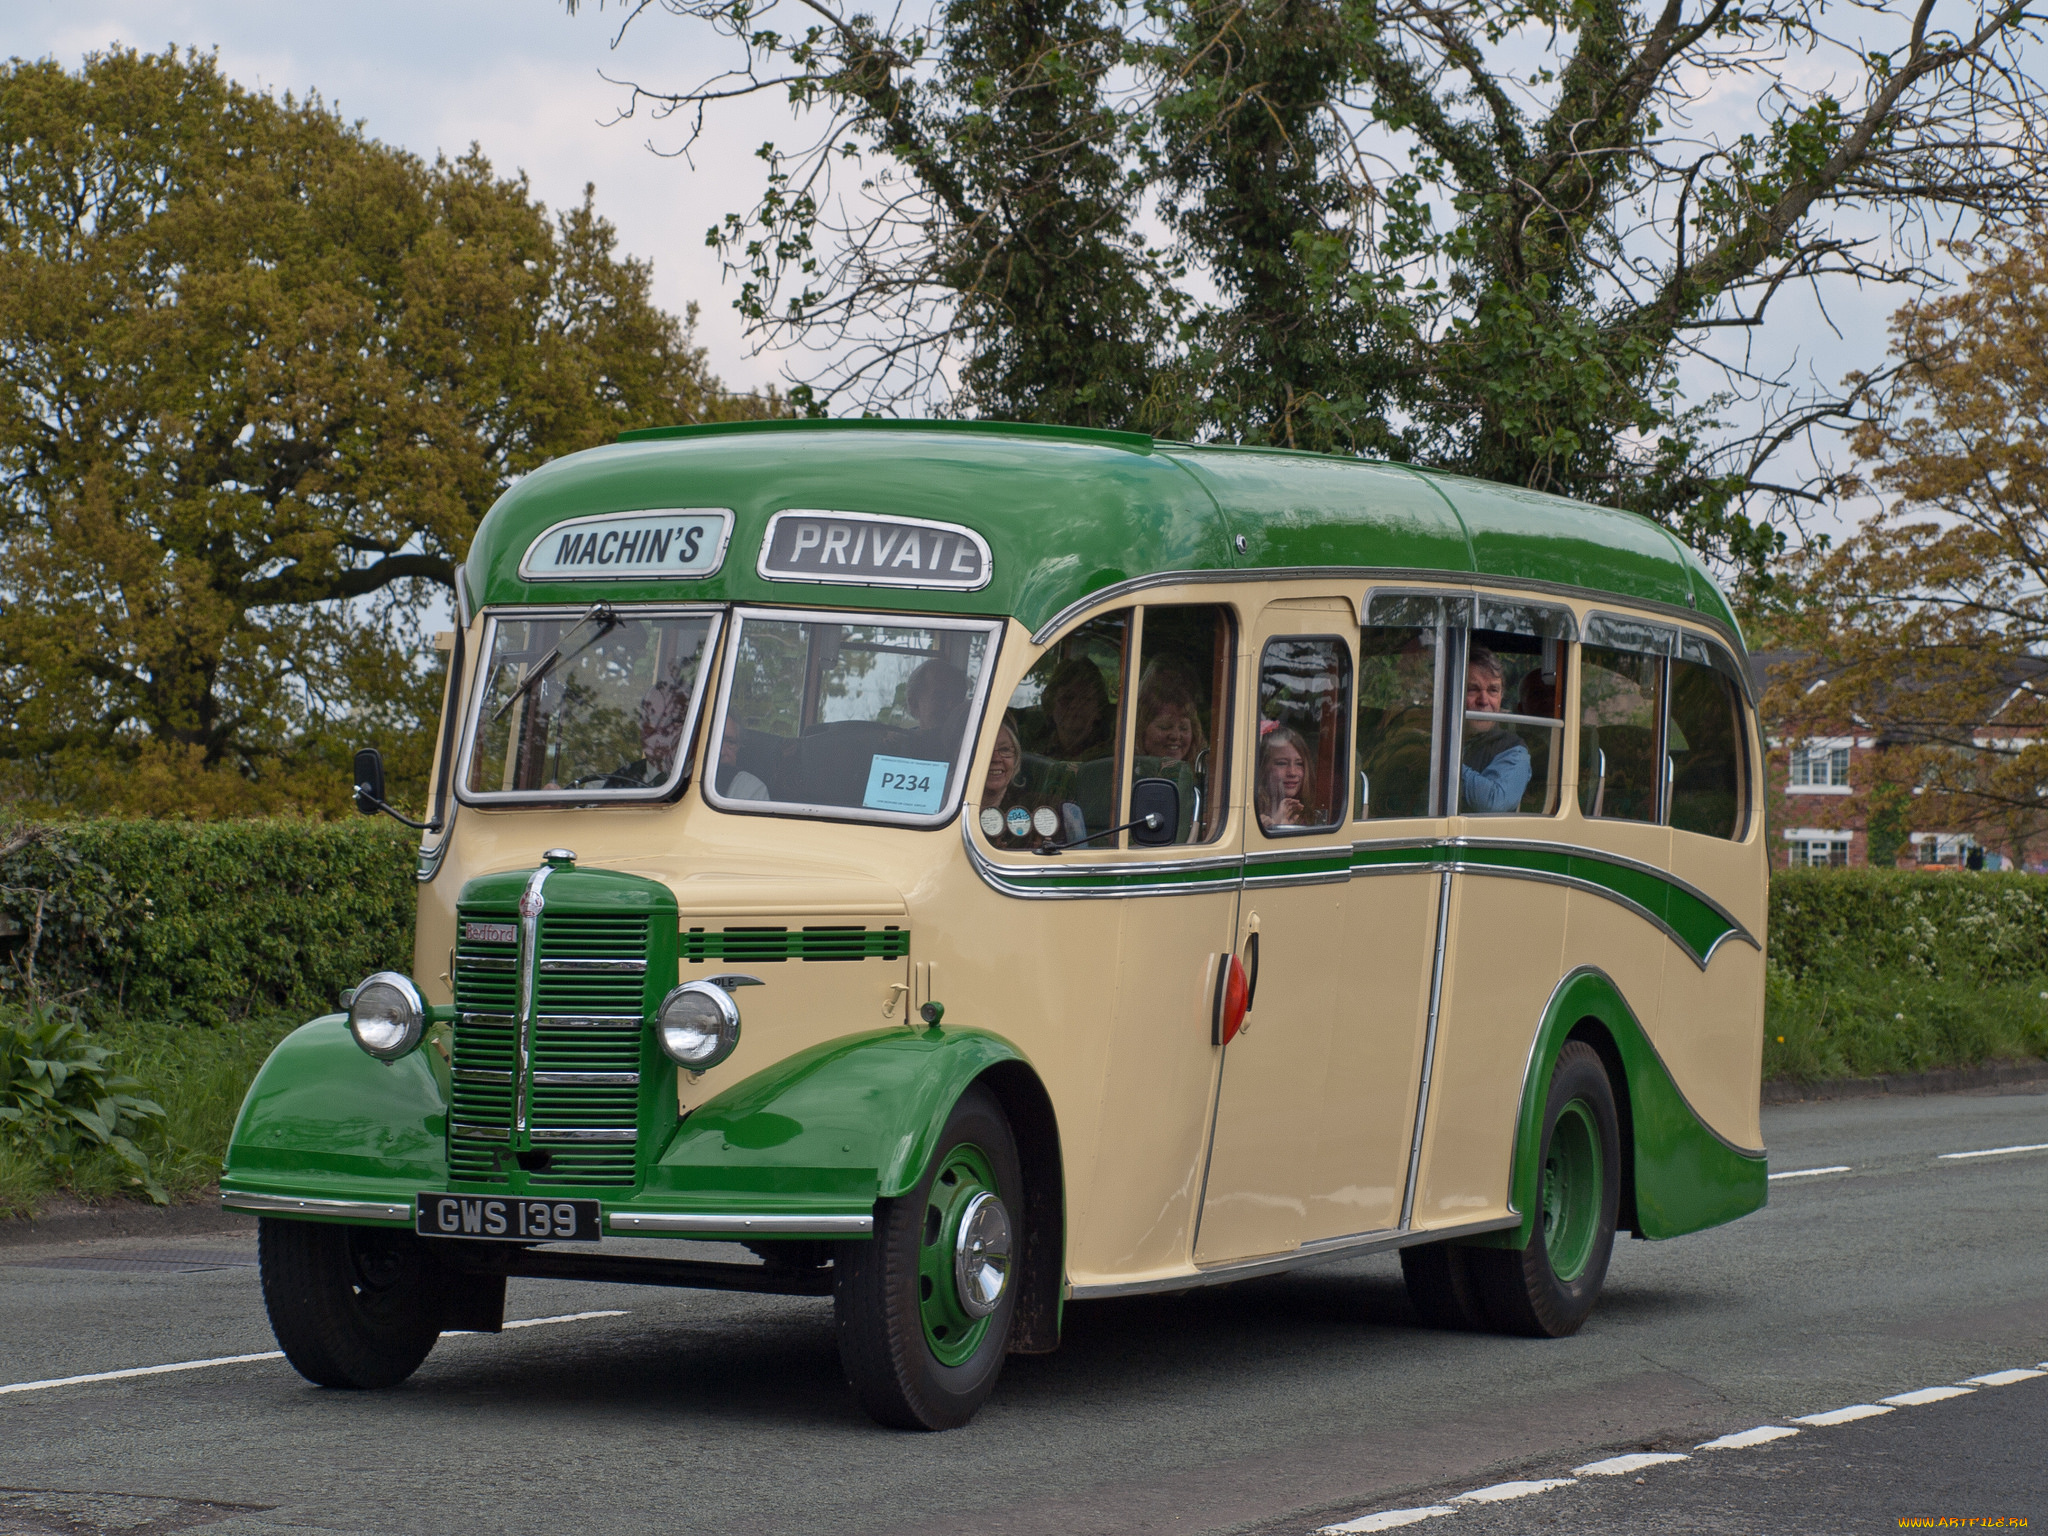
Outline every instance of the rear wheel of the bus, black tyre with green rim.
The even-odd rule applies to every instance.
[[[1597,1157],[1593,1188],[1585,1186],[1583,1169],[1573,1171],[1587,1155]],[[1556,1053],[1544,1102],[1536,1231],[1524,1249],[1464,1249],[1479,1305],[1495,1331],[1538,1339],[1579,1331],[1608,1278],[1620,1196],[1622,1135],[1614,1085],[1593,1047],[1567,1040]],[[1581,1217],[1589,1223],[1583,1229]]]

